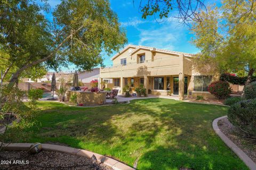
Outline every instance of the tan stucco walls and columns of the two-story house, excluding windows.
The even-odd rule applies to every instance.
[[[134,49],[134,48],[133,48]],[[166,95],[166,77],[171,77],[170,89],[173,94],[173,77],[179,77],[179,94],[183,94],[183,80],[184,77],[188,77],[188,95],[189,92],[194,90],[194,75],[207,75],[207,73],[199,73],[193,67],[191,57],[184,56],[183,54],[166,54],[164,52],[153,52],[148,49],[139,49],[137,52],[129,55],[129,49],[123,52],[121,55],[113,60],[113,67],[100,70],[101,78],[134,78],[134,88],[139,85],[140,77],[147,77],[148,87],[147,89],[154,89],[153,77],[164,77],[164,91],[154,91],[152,94]],[[145,54],[145,63],[138,63],[138,55]],[[121,66],[120,58],[126,57],[127,65]],[[216,74],[217,75],[217,74]],[[212,75],[212,81],[218,79],[218,76]],[[124,83],[124,81],[123,81]],[[151,84],[150,84],[151,83]],[[121,88],[121,87],[120,87]],[[195,96],[195,95],[194,95]],[[212,97],[209,94],[203,94],[202,96]],[[183,96],[180,96],[182,99]]]

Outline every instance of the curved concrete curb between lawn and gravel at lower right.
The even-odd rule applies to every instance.
[[[216,118],[212,122],[212,128],[214,131],[219,135],[219,137],[223,140],[223,142],[226,143],[226,145],[235,152],[235,154],[243,160],[243,162],[251,169],[256,170],[256,164],[252,161],[252,159],[245,154],[240,148],[238,148],[234,142],[232,142],[224,133],[222,133],[218,126],[218,121],[222,118],[225,118],[227,116],[222,116],[219,118]]]

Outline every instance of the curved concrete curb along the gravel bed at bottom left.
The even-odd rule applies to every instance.
[[[32,144],[33,143],[10,143],[10,144],[5,143],[3,145],[3,149],[5,149],[5,150],[28,150]],[[110,166],[114,170],[135,170],[134,168],[132,168],[128,165],[125,165],[124,163],[119,162],[116,159],[113,159],[113,158],[110,158],[107,156],[103,156],[100,154],[96,154],[94,152],[87,151],[84,149],[77,149],[77,148],[71,148],[71,147],[66,147],[66,146],[43,144],[43,143],[42,143],[42,149],[46,150],[46,151],[58,151],[58,152],[63,152],[63,153],[67,153],[67,154],[83,156],[83,157],[87,157],[87,158],[91,158],[94,155],[99,162]]]

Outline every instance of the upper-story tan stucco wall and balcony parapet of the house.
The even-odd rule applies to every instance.
[[[137,56],[139,54],[144,54],[146,61],[145,63],[137,64]],[[100,70],[100,78],[121,78],[121,77],[144,77],[147,76],[161,76],[161,75],[174,75],[179,74],[182,70],[180,68],[180,56],[166,55],[158,52],[154,52],[157,58],[164,56],[161,60],[151,61],[151,55],[153,52],[150,50],[138,50],[130,56],[130,61],[133,61],[132,64],[129,64],[127,60],[127,65],[120,65],[120,58],[127,56],[127,50],[117,58],[113,60],[113,67],[105,68]],[[167,57],[169,56],[169,57]],[[129,57],[128,57],[129,58]],[[147,61],[148,60],[148,61]],[[189,62],[184,63],[184,67],[189,69]],[[185,69],[186,70],[186,69]]]

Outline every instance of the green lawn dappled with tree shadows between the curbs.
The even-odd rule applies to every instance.
[[[96,108],[39,107],[37,123],[9,140],[66,143],[130,166],[138,159],[138,169],[247,169],[212,129],[212,121],[227,114],[224,106],[154,98]]]

